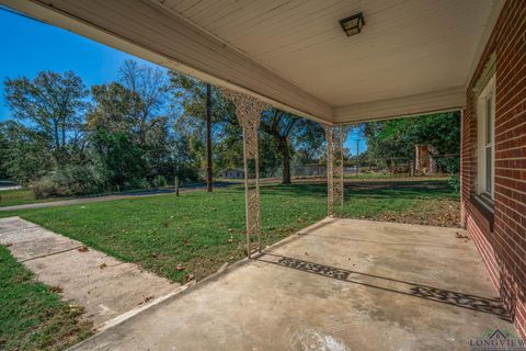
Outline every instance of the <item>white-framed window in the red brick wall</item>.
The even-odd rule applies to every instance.
[[[479,95],[477,111],[478,184],[477,193],[490,202],[494,199],[495,178],[495,76]]]

